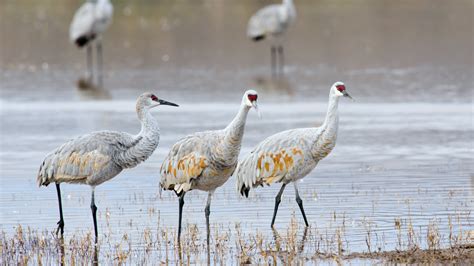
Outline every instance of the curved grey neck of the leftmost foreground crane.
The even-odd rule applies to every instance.
[[[137,114],[141,122],[141,130],[140,133],[134,137],[135,142],[120,156],[120,166],[123,168],[135,167],[148,159],[160,141],[158,121],[151,115],[149,110],[137,107]]]

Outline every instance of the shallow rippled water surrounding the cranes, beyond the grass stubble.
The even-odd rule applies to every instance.
[[[474,230],[473,65],[466,56],[473,47],[472,2],[382,2],[297,1],[298,22],[285,40],[286,76],[279,80],[268,73],[268,47],[243,36],[246,19],[263,2],[119,2],[104,37],[105,89],[99,90],[76,88],[83,54],[67,43],[66,26],[77,1],[48,8],[0,3],[0,229],[9,235],[18,225],[55,229],[55,189],[36,185],[42,159],[90,131],[138,132],[134,99],[146,89],[180,107],[153,111],[162,135],[148,161],[96,189],[100,238],[107,241],[102,255],[124,233],[142,250],[145,229],[176,228],[176,197],[158,194],[160,163],[175,141],[225,127],[245,88],[255,87],[263,117],[248,117],[245,154],[266,136],[320,124],[329,86],[343,80],[356,101],[340,102],[336,148],[299,183],[311,222],[307,252],[314,252],[317,236],[333,235],[343,223],[348,251],[367,251],[367,231],[374,248],[397,248],[395,219],[410,220],[420,235],[436,223],[444,246],[450,218],[458,219],[454,231]],[[272,239],[279,187],[243,199],[234,181],[214,195],[213,228],[233,231],[240,224],[244,234]],[[62,193],[66,238],[90,232],[90,189],[63,185]],[[201,237],[206,196],[189,193],[184,207],[184,222],[196,224]],[[292,217],[302,237],[288,187],[277,217],[281,234]],[[162,260],[161,251],[152,258]]]

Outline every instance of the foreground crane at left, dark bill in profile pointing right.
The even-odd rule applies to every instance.
[[[115,131],[97,131],[72,139],[46,156],[38,172],[38,185],[56,183],[59,202],[59,222],[56,234],[64,233],[61,183],[87,184],[92,188],[91,210],[97,243],[97,207],[95,187],[117,176],[123,169],[132,168],[150,157],[158,146],[160,128],[149,112],[159,105],[178,106],[144,93],[137,99],[136,111],[141,122],[137,135]]]

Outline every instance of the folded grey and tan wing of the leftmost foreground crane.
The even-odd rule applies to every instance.
[[[100,131],[64,143],[46,156],[40,166],[38,185],[51,182],[80,183],[110,163],[117,154],[139,141],[128,133]]]

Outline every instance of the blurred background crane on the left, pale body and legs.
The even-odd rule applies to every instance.
[[[109,0],[88,0],[74,14],[69,39],[79,48],[87,47],[87,79],[93,82],[92,41],[96,40],[98,81],[102,85],[102,33],[112,22],[113,6]]]

